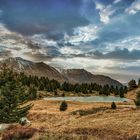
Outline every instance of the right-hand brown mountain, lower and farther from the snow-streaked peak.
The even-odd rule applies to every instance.
[[[97,83],[100,85],[122,86],[122,84],[104,75],[94,75],[84,69],[64,69],[61,73],[71,83]]]

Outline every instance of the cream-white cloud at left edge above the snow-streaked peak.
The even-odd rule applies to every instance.
[[[27,42],[21,34],[9,31],[2,23],[0,23],[0,47],[10,51],[13,57],[26,58],[23,54],[32,51],[27,47]]]

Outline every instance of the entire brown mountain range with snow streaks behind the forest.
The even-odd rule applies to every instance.
[[[59,82],[70,82],[70,83],[97,83],[100,85],[114,85],[122,86],[118,81],[111,79],[104,75],[94,75],[84,69],[62,69],[56,70],[55,68],[43,63],[43,62],[32,62],[24,60],[20,57],[8,58],[0,62],[0,67],[3,64],[12,68],[16,72],[24,72],[27,75],[45,76],[49,79],[55,79]]]

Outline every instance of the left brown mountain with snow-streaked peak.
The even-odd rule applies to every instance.
[[[32,61],[24,60],[20,57],[8,58],[0,62],[0,66],[5,63],[8,67],[16,72],[24,72],[27,75],[37,75],[39,77],[45,76],[49,79],[55,79],[59,82],[67,81],[67,79],[59,73],[55,68],[43,63],[35,63]]]

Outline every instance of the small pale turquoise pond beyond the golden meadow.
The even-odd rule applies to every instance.
[[[48,97],[45,100],[51,101],[77,101],[77,102],[124,102],[130,101],[127,98],[120,98],[115,96],[89,96],[89,97]]]

